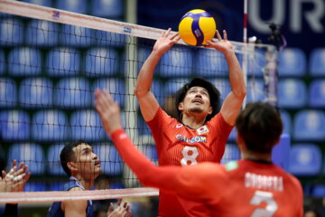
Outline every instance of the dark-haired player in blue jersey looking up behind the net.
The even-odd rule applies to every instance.
[[[98,156],[93,152],[92,146],[85,141],[77,141],[63,147],[60,152],[60,163],[64,172],[69,175],[70,181],[64,185],[65,191],[79,192],[89,190],[95,182],[102,168]],[[129,217],[132,212],[127,203],[120,205],[116,209],[113,205],[108,208],[109,217]],[[76,217],[94,216],[92,201],[64,201],[51,204],[48,217]]]

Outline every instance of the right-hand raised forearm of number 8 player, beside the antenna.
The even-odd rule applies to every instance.
[[[244,99],[246,96],[246,84],[237,56],[232,50],[228,50],[224,54],[228,62],[231,90],[238,99]]]

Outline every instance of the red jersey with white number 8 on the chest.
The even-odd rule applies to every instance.
[[[159,165],[197,165],[220,162],[232,126],[219,112],[198,129],[184,126],[159,108],[147,123],[153,133]],[[185,200],[174,193],[160,191],[159,216],[207,216],[206,205]]]

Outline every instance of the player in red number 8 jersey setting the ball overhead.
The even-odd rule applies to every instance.
[[[176,93],[178,117],[172,118],[160,107],[150,91],[153,71],[164,52],[180,40],[171,29],[162,33],[153,52],[139,72],[135,95],[139,100],[144,121],[151,128],[159,156],[159,165],[196,165],[199,162],[220,162],[243,99],[246,85],[243,72],[228,42],[217,31],[218,42],[209,42],[225,55],[228,62],[231,91],[220,109],[220,93],[207,80],[196,78]],[[207,216],[208,208],[202,203],[184,200],[173,193],[160,192],[159,216]]]

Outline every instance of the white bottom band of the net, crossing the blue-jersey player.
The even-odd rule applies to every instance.
[[[157,196],[155,188],[125,188],[80,192],[0,193],[0,203],[42,203],[70,200],[107,200],[127,197]]]

